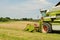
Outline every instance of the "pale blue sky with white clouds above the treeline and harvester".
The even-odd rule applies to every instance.
[[[50,9],[60,0],[0,0],[0,17],[33,18],[41,17],[40,9]]]

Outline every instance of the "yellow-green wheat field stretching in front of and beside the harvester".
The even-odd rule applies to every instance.
[[[27,24],[35,23],[39,24],[29,21],[0,22],[0,40],[60,40],[60,34],[24,31]]]

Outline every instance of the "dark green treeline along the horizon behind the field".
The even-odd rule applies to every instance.
[[[32,18],[11,19],[10,17],[0,17],[0,22],[7,22],[7,21],[38,21],[38,20]]]

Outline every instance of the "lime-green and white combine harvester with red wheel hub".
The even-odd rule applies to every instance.
[[[39,22],[39,27],[27,26],[25,30],[27,31],[40,31],[42,33],[50,33],[53,30],[60,31],[60,2],[55,5],[55,7],[49,10],[40,10],[42,17]]]

